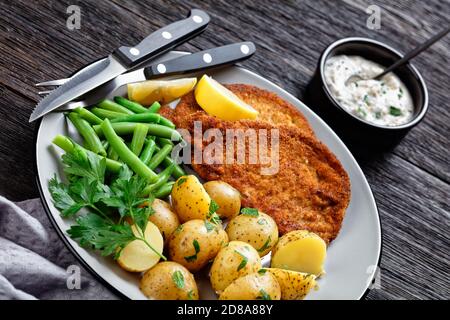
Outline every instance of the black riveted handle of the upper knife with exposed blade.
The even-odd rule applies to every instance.
[[[153,32],[137,46],[122,46],[114,51],[120,61],[129,69],[149,58],[156,57],[201,33],[209,23],[206,12],[192,9],[186,19],[174,22]]]

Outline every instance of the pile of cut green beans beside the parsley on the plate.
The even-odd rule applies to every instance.
[[[145,107],[124,97],[103,100],[91,108],[77,108],[67,117],[83,137],[83,146],[63,135],[56,136],[53,143],[67,153],[77,146],[106,158],[106,169],[112,174],[126,164],[148,181],[145,195],[165,198],[173,180],[186,173],[171,158],[181,135],[169,119],[158,113],[160,108],[158,102]]]

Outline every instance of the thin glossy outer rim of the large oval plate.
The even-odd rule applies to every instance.
[[[176,53],[176,54],[189,54],[189,52],[185,52],[185,51],[176,51],[173,50],[170,53]],[[378,235],[378,239],[377,239],[377,244],[378,244],[378,252],[377,252],[377,258],[376,258],[376,267],[374,268],[374,270],[370,273],[369,277],[368,277],[368,281],[367,281],[367,285],[366,285],[366,289],[364,292],[362,292],[360,294],[360,296],[357,298],[358,300],[363,299],[364,297],[367,296],[367,294],[370,292],[371,288],[371,284],[375,279],[375,275],[377,273],[377,269],[380,267],[380,262],[381,262],[381,256],[382,256],[382,248],[383,248],[383,229],[382,229],[382,225],[381,225],[381,219],[380,219],[380,214],[379,214],[379,210],[378,210],[378,205],[375,201],[375,198],[373,196],[373,192],[372,192],[372,188],[370,187],[362,169],[360,168],[358,162],[356,161],[356,159],[353,157],[353,154],[350,152],[350,150],[347,148],[347,146],[342,142],[342,140],[339,138],[339,136],[329,127],[329,125],[322,120],[322,118],[320,118],[314,111],[312,111],[304,102],[300,101],[297,97],[293,96],[292,94],[290,94],[289,92],[287,92],[286,90],[284,90],[283,88],[281,88],[280,86],[278,86],[277,84],[265,79],[264,77],[260,76],[259,74],[256,74],[248,69],[245,69],[243,67],[240,66],[233,66],[234,68],[239,68],[240,71],[249,74],[251,77],[255,77],[257,78],[259,81],[266,83],[268,86],[271,87],[276,87],[278,91],[282,92],[283,94],[285,94],[286,96],[288,96],[291,100],[294,100],[296,103],[298,103],[299,105],[303,106],[303,109],[301,110],[302,113],[306,112],[309,113],[310,116],[315,117],[316,120],[320,123],[320,126],[322,127],[326,127],[328,129],[329,132],[332,133],[332,135],[334,136],[335,139],[337,139],[337,141],[340,143],[341,147],[344,149],[344,151],[350,156],[351,160],[353,161],[356,169],[358,170],[358,173],[364,178],[364,184],[365,186],[368,188],[369,190],[369,196],[370,196],[370,201],[372,202],[372,205],[374,206],[375,210],[376,210],[376,217],[377,217],[377,222],[378,222],[378,230],[379,232],[377,233]],[[297,106],[295,106],[295,108],[297,108]],[[44,186],[42,185],[41,181],[40,181],[40,176],[39,176],[39,170],[38,170],[38,137],[39,137],[39,132],[41,129],[41,124],[42,124],[42,120],[43,118],[40,118],[38,120],[38,122],[36,123],[35,126],[35,130],[34,130],[34,144],[35,144],[35,148],[34,150],[34,171],[35,171],[35,182],[36,182],[36,186],[38,188],[39,191],[39,199],[41,200],[41,203],[43,205],[44,211],[47,214],[53,228],[55,229],[55,231],[57,232],[58,236],[61,238],[61,240],[63,241],[63,243],[66,245],[66,247],[69,249],[69,251],[77,258],[77,260],[82,264],[82,266],[88,271],[90,272],[95,278],[96,280],[99,280],[102,284],[104,284],[106,287],[108,287],[111,291],[113,291],[116,295],[118,295],[121,298],[124,299],[131,299],[131,297],[127,296],[124,292],[120,291],[119,288],[115,287],[114,285],[112,285],[110,282],[108,282],[107,279],[105,279],[103,276],[101,276],[97,271],[95,271],[92,266],[78,253],[77,249],[75,249],[75,247],[69,242],[69,240],[67,239],[67,236],[64,234],[64,231],[59,227],[57,221],[55,220],[55,217],[53,216],[51,209],[49,207],[49,203],[47,202],[47,199],[44,195],[43,189]],[[51,200],[48,200],[51,201]],[[345,217],[344,217],[345,219]],[[81,248],[81,247],[80,247]],[[84,250],[84,248],[82,248]]]

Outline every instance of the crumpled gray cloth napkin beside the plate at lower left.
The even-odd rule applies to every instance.
[[[117,299],[67,249],[39,199],[0,196],[0,300]]]

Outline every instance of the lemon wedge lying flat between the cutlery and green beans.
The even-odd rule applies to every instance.
[[[194,89],[197,78],[148,80],[128,84],[128,98],[143,105],[169,103]]]

